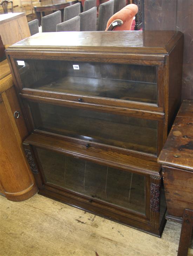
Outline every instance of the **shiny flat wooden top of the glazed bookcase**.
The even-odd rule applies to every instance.
[[[173,31],[89,31],[38,33],[10,46],[9,50],[47,49],[65,51],[106,51],[169,53],[182,36]],[[94,38],[94,41],[93,41]],[[117,38],[120,40],[117,41]],[[172,38],[172,39],[171,39]],[[38,40],[37,40],[38,39]],[[64,46],[66,46],[64,48]],[[62,48],[63,47],[63,48]]]

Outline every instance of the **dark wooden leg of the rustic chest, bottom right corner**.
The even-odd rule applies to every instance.
[[[178,256],[187,256],[193,228],[193,210],[185,209],[182,219]]]

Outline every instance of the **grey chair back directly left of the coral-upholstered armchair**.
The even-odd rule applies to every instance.
[[[113,15],[113,9],[114,9],[114,0],[109,0],[104,4],[99,5],[99,16],[98,16],[98,24],[97,24],[98,31],[105,31],[107,26],[107,21]]]

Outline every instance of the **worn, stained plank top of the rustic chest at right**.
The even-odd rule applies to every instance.
[[[158,162],[193,171],[193,101],[182,102]]]

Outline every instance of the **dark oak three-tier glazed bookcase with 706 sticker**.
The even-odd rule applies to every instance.
[[[182,47],[180,32],[109,31],[8,48],[40,194],[161,236],[157,157],[180,105]]]

